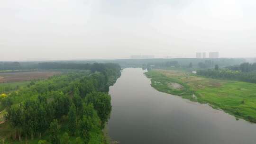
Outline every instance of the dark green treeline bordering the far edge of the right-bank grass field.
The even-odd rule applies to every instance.
[[[240,71],[231,71],[231,70],[199,70],[197,71],[198,75],[206,76],[214,79],[226,79],[226,80],[235,80],[235,81],[244,81],[256,83],[256,72],[240,72]]]

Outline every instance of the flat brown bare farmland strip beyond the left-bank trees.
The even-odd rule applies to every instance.
[[[0,73],[0,83],[46,79],[60,72],[13,72]]]

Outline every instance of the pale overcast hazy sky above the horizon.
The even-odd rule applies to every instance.
[[[0,0],[0,61],[256,57],[256,0]]]

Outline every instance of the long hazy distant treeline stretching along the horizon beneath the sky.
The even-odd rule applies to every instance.
[[[76,68],[84,69],[90,67],[90,64],[85,63],[118,63],[122,68],[127,67],[146,67],[145,65],[159,65],[159,68],[180,66],[188,67],[191,63],[194,68],[200,68],[199,63],[202,67],[208,67],[208,63],[205,61],[212,61],[214,66],[218,64],[220,67],[229,65],[235,65],[246,62],[246,59],[242,58],[219,58],[219,59],[199,59],[199,58],[171,58],[171,59],[120,59],[120,60],[95,60],[95,61],[62,61],[56,63],[41,63],[40,62],[0,62],[0,70],[31,70],[31,69],[64,69],[64,68]],[[174,63],[173,63],[174,62]],[[175,64],[178,62],[178,65]],[[4,64],[5,63],[5,64]],[[17,65],[19,63],[19,65]],[[202,64],[203,63],[203,64]],[[75,64],[75,65],[73,65]],[[81,64],[81,65],[80,65]],[[204,65],[206,64],[206,65]],[[11,65],[11,66],[8,66]]]

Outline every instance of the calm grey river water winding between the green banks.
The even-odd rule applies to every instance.
[[[256,124],[159,92],[139,68],[110,87],[109,135],[119,144],[256,144]]]

